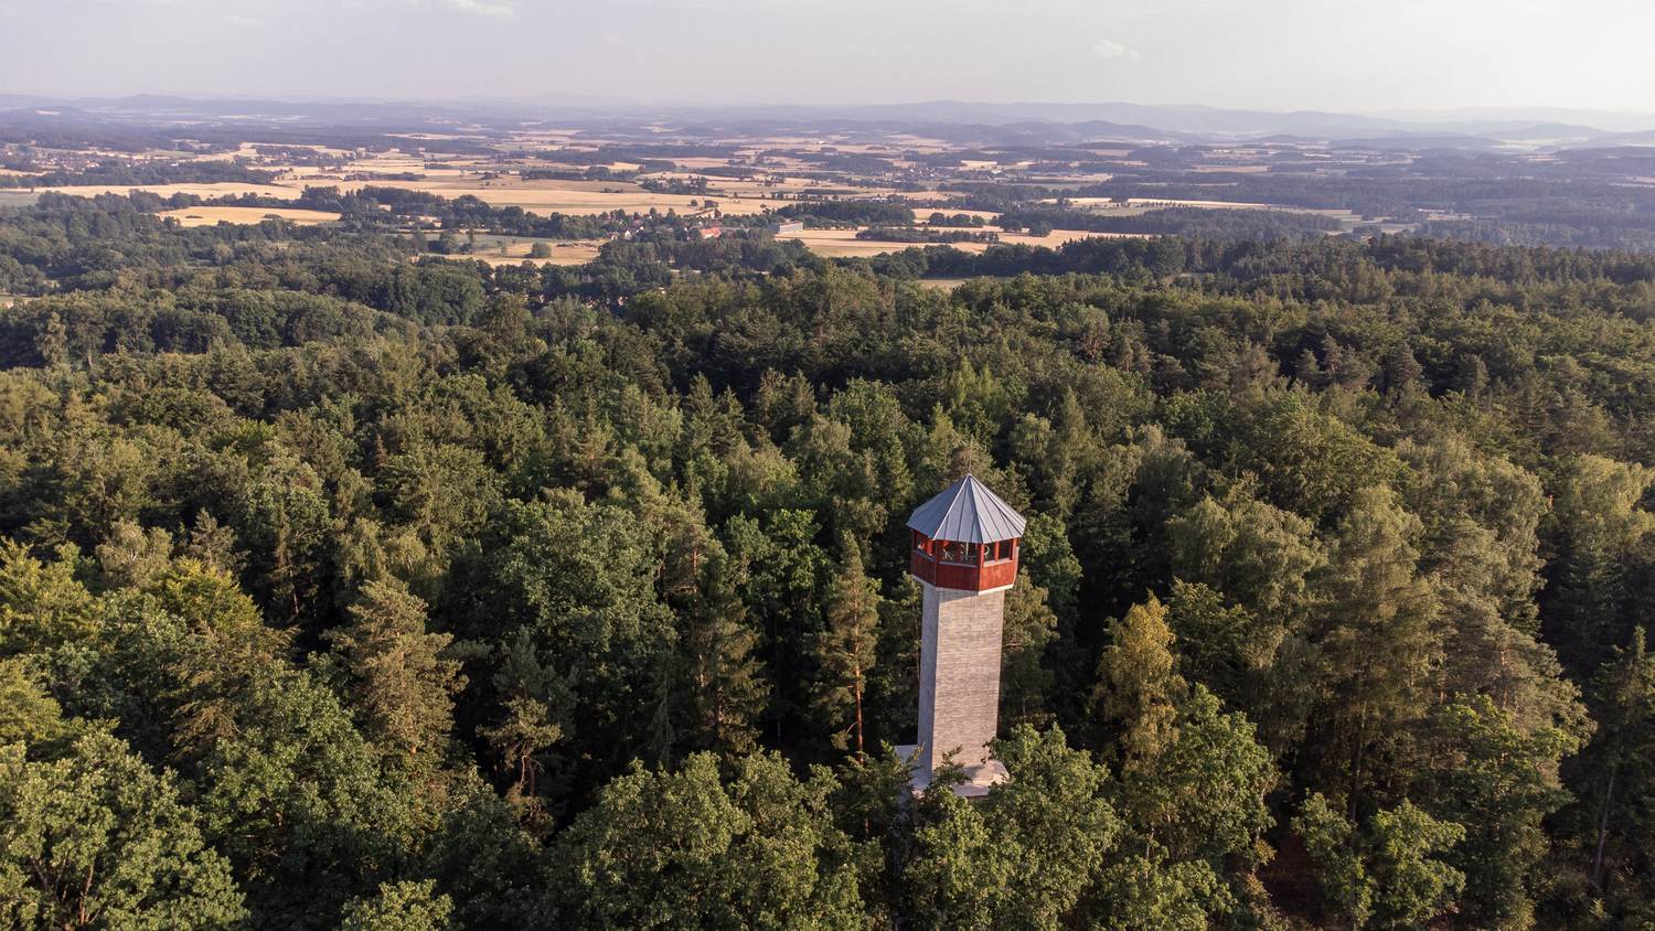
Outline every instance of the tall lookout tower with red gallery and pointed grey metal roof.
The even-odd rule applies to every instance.
[[[1005,781],[988,759],[1000,723],[1000,632],[1006,589],[1018,579],[1023,514],[973,475],[920,504],[909,518],[909,572],[923,585],[919,744],[897,747],[914,767],[914,789],[953,754],[975,797]]]

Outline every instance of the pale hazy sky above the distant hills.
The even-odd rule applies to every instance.
[[[1655,111],[1655,2],[0,0],[0,93]]]

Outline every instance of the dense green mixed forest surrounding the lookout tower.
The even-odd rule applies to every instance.
[[[1655,923],[1650,256],[157,207],[0,213],[0,924]],[[967,468],[976,804],[890,751]]]

